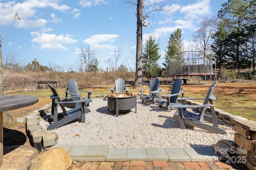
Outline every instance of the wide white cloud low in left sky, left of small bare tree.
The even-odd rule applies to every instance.
[[[76,43],[77,40],[72,39],[72,35],[66,34],[66,35],[55,35],[55,34],[48,34],[48,33],[38,33],[38,32],[31,32],[33,43],[40,44],[41,49],[57,49],[60,51],[66,51],[68,50],[67,47],[65,47],[62,44],[72,44]]]

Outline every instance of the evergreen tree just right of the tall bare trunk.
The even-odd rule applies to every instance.
[[[159,43],[150,37],[146,41],[146,47],[142,52],[142,66],[144,68],[144,75],[146,78],[151,79],[161,75],[161,68],[158,61],[161,57],[159,51]]]

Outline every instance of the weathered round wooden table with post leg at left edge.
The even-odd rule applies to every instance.
[[[38,97],[35,96],[0,96],[0,167],[3,164],[3,143],[4,143],[4,130],[3,130],[3,112],[8,110],[19,109],[26,106],[31,106],[38,102]]]

